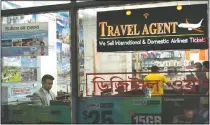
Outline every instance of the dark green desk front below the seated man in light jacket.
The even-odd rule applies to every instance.
[[[4,124],[70,124],[71,95],[58,92],[57,100],[51,100],[50,106],[36,106],[32,95],[18,98],[2,104]],[[26,119],[27,117],[27,119]]]

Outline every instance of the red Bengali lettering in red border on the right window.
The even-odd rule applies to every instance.
[[[146,74],[148,72],[141,73],[86,73],[86,95],[87,96],[145,96],[145,89],[156,90],[158,93],[159,81],[157,80],[144,80],[141,78],[130,77],[134,74]],[[187,73],[187,71],[185,72]],[[188,72],[189,73],[189,72]],[[207,94],[204,89],[208,91],[208,80],[202,79],[182,79],[182,80],[170,80],[168,82],[167,90],[175,92],[176,94],[188,93],[195,94],[196,87],[199,86],[199,91],[202,94]],[[166,90],[166,89],[165,89]],[[107,93],[109,94],[101,94]],[[94,94],[93,94],[94,93]],[[153,94],[155,95],[155,94]],[[157,96],[157,95],[155,95]]]

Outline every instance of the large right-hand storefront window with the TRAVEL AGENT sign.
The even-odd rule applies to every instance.
[[[199,110],[198,112],[206,112],[208,110],[207,97],[205,97],[205,95],[208,94],[208,89],[204,93],[199,93],[198,85],[200,85],[201,82],[195,84],[192,82],[193,80],[204,81],[204,79],[208,81],[208,70],[205,68],[206,66],[208,67],[208,62],[206,61],[209,60],[209,50],[208,42],[204,40],[207,38],[206,31],[208,29],[207,10],[205,10],[207,8],[201,12],[204,16],[196,17],[197,19],[187,14],[188,7],[193,8],[193,5],[198,4],[207,7],[207,2],[204,1],[203,3],[187,1],[79,10],[79,22],[80,25],[82,22],[84,32],[83,37],[80,36],[79,38],[80,54],[84,54],[84,56],[80,55],[80,123],[186,123],[187,121],[181,121],[181,117],[185,118],[183,115],[184,112],[191,111],[192,109],[193,111],[194,109]],[[183,10],[177,5],[180,5]],[[158,7],[161,8],[162,11],[167,7],[172,8],[171,13],[168,12],[169,16],[163,17],[166,19],[165,21],[158,17],[157,14],[161,15],[158,13]],[[157,10],[157,13],[153,8]],[[128,18],[129,16],[132,18],[132,14],[138,15],[139,17],[136,16],[135,19],[129,20]],[[177,14],[183,19],[180,18],[179,20],[178,17],[177,19],[172,19],[170,18],[171,14]],[[140,16],[142,17],[141,20]],[[99,21],[101,21],[100,24]],[[172,26],[170,27],[166,25],[166,23],[160,24],[163,21],[177,23],[170,24],[170,26]],[[148,22],[151,23],[150,26]],[[198,27],[202,26],[202,28],[186,28],[185,25],[179,25],[182,24],[182,22],[187,25],[188,23],[199,24]],[[100,29],[99,27],[102,25],[104,27]],[[125,25],[130,26],[127,26],[126,29]],[[164,30],[164,27],[159,27],[158,29],[157,25],[165,25],[165,31],[162,31],[162,35],[164,32],[173,32],[173,28],[177,28],[176,33],[174,31],[174,34],[170,36],[171,38],[167,33],[162,37],[155,37],[155,34]],[[109,29],[106,29],[107,27]],[[132,27],[132,29],[129,27]],[[178,29],[181,27],[183,29]],[[150,45],[148,44],[146,46],[143,44],[144,40],[141,35],[138,35],[138,29],[142,30],[141,34],[145,34],[146,37],[144,39],[147,40],[147,44],[148,39],[150,39]],[[81,30],[79,30],[79,32],[80,31]],[[187,35],[186,32],[189,32],[192,37],[190,38],[190,35]],[[123,33],[130,35],[122,35]],[[133,34],[136,34],[136,36]],[[161,33],[158,35],[160,34]],[[198,34],[198,36],[196,36],[196,34]],[[100,37],[100,35],[102,37]],[[193,35],[195,35],[195,37]],[[183,47],[186,46],[184,42],[186,43],[186,41],[188,41],[186,39],[188,38],[189,41],[191,39],[191,43],[202,41],[201,44],[203,45],[192,44],[192,48]],[[126,46],[128,42],[134,41],[134,43],[138,43],[140,39],[142,40],[141,46]],[[161,39],[162,42],[164,39],[166,42],[167,39],[170,39],[172,43],[177,42],[182,46],[176,49],[173,48],[175,46],[174,44],[165,48],[163,45],[159,45],[158,47],[155,45],[154,39],[156,39],[156,43]],[[152,40],[153,42],[151,42]],[[84,41],[84,43],[82,41]],[[206,47],[204,47],[204,43]],[[200,48],[198,46],[200,46]],[[198,72],[202,74],[203,78],[199,78],[199,73],[196,72],[198,70],[197,65],[200,65],[200,63],[203,65],[204,70]],[[205,63],[207,63],[207,65]],[[151,73],[151,68],[154,65],[158,66],[160,72],[158,76],[161,77],[163,83],[169,83],[162,86],[164,92],[161,94],[158,93],[158,95],[151,92],[154,90],[153,87],[151,89],[146,86],[148,89],[145,90],[143,90],[143,87],[140,87],[142,85],[140,82],[144,83],[146,79],[151,78],[146,76]],[[153,67],[153,69],[155,68]],[[165,78],[167,80],[165,80]],[[151,79],[153,79],[153,77]],[[154,78],[153,81],[155,80]],[[195,91],[186,92],[186,88],[183,88],[186,85],[189,85],[190,87],[188,86],[188,88]],[[208,86],[208,83],[205,85]],[[145,95],[147,97],[145,97]],[[88,98],[85,98],[85,100],[82,97]],[[173,104],[173,101],[176,104]],[[190,107],[189,104],[195,105]],[[190,108],[187,109],[187,107]],[[169,109],[173,111],[168,113]],[[98,117],[91,117],[93,114]],[[181,117],[179,118],[178,115],[181,115]],[[199,119],[199,117],[198,114],[194,114],[191,118]],[[122,119],[124,119],[124,121],[122,121]],[[204,121],[199,121],[198,119],[196,123],[202,123],[204,121],[208,123],[208,119]],[[189,121],[189,123],[194,122]]]

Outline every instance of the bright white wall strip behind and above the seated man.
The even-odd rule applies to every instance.
[[[38,56],[40,62],[40,71],[38,79],[41,80],[45,74],[52,75],[55,79],[52,91],[57,95],[57,60],[56,60],[56,14],[37,14],[36,22],[48,22],[48,56]]]

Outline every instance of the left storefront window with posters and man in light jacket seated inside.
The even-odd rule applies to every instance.
[[[9,123],[71,123],[69,19],[68,11],[3,17],[1,86]]]

